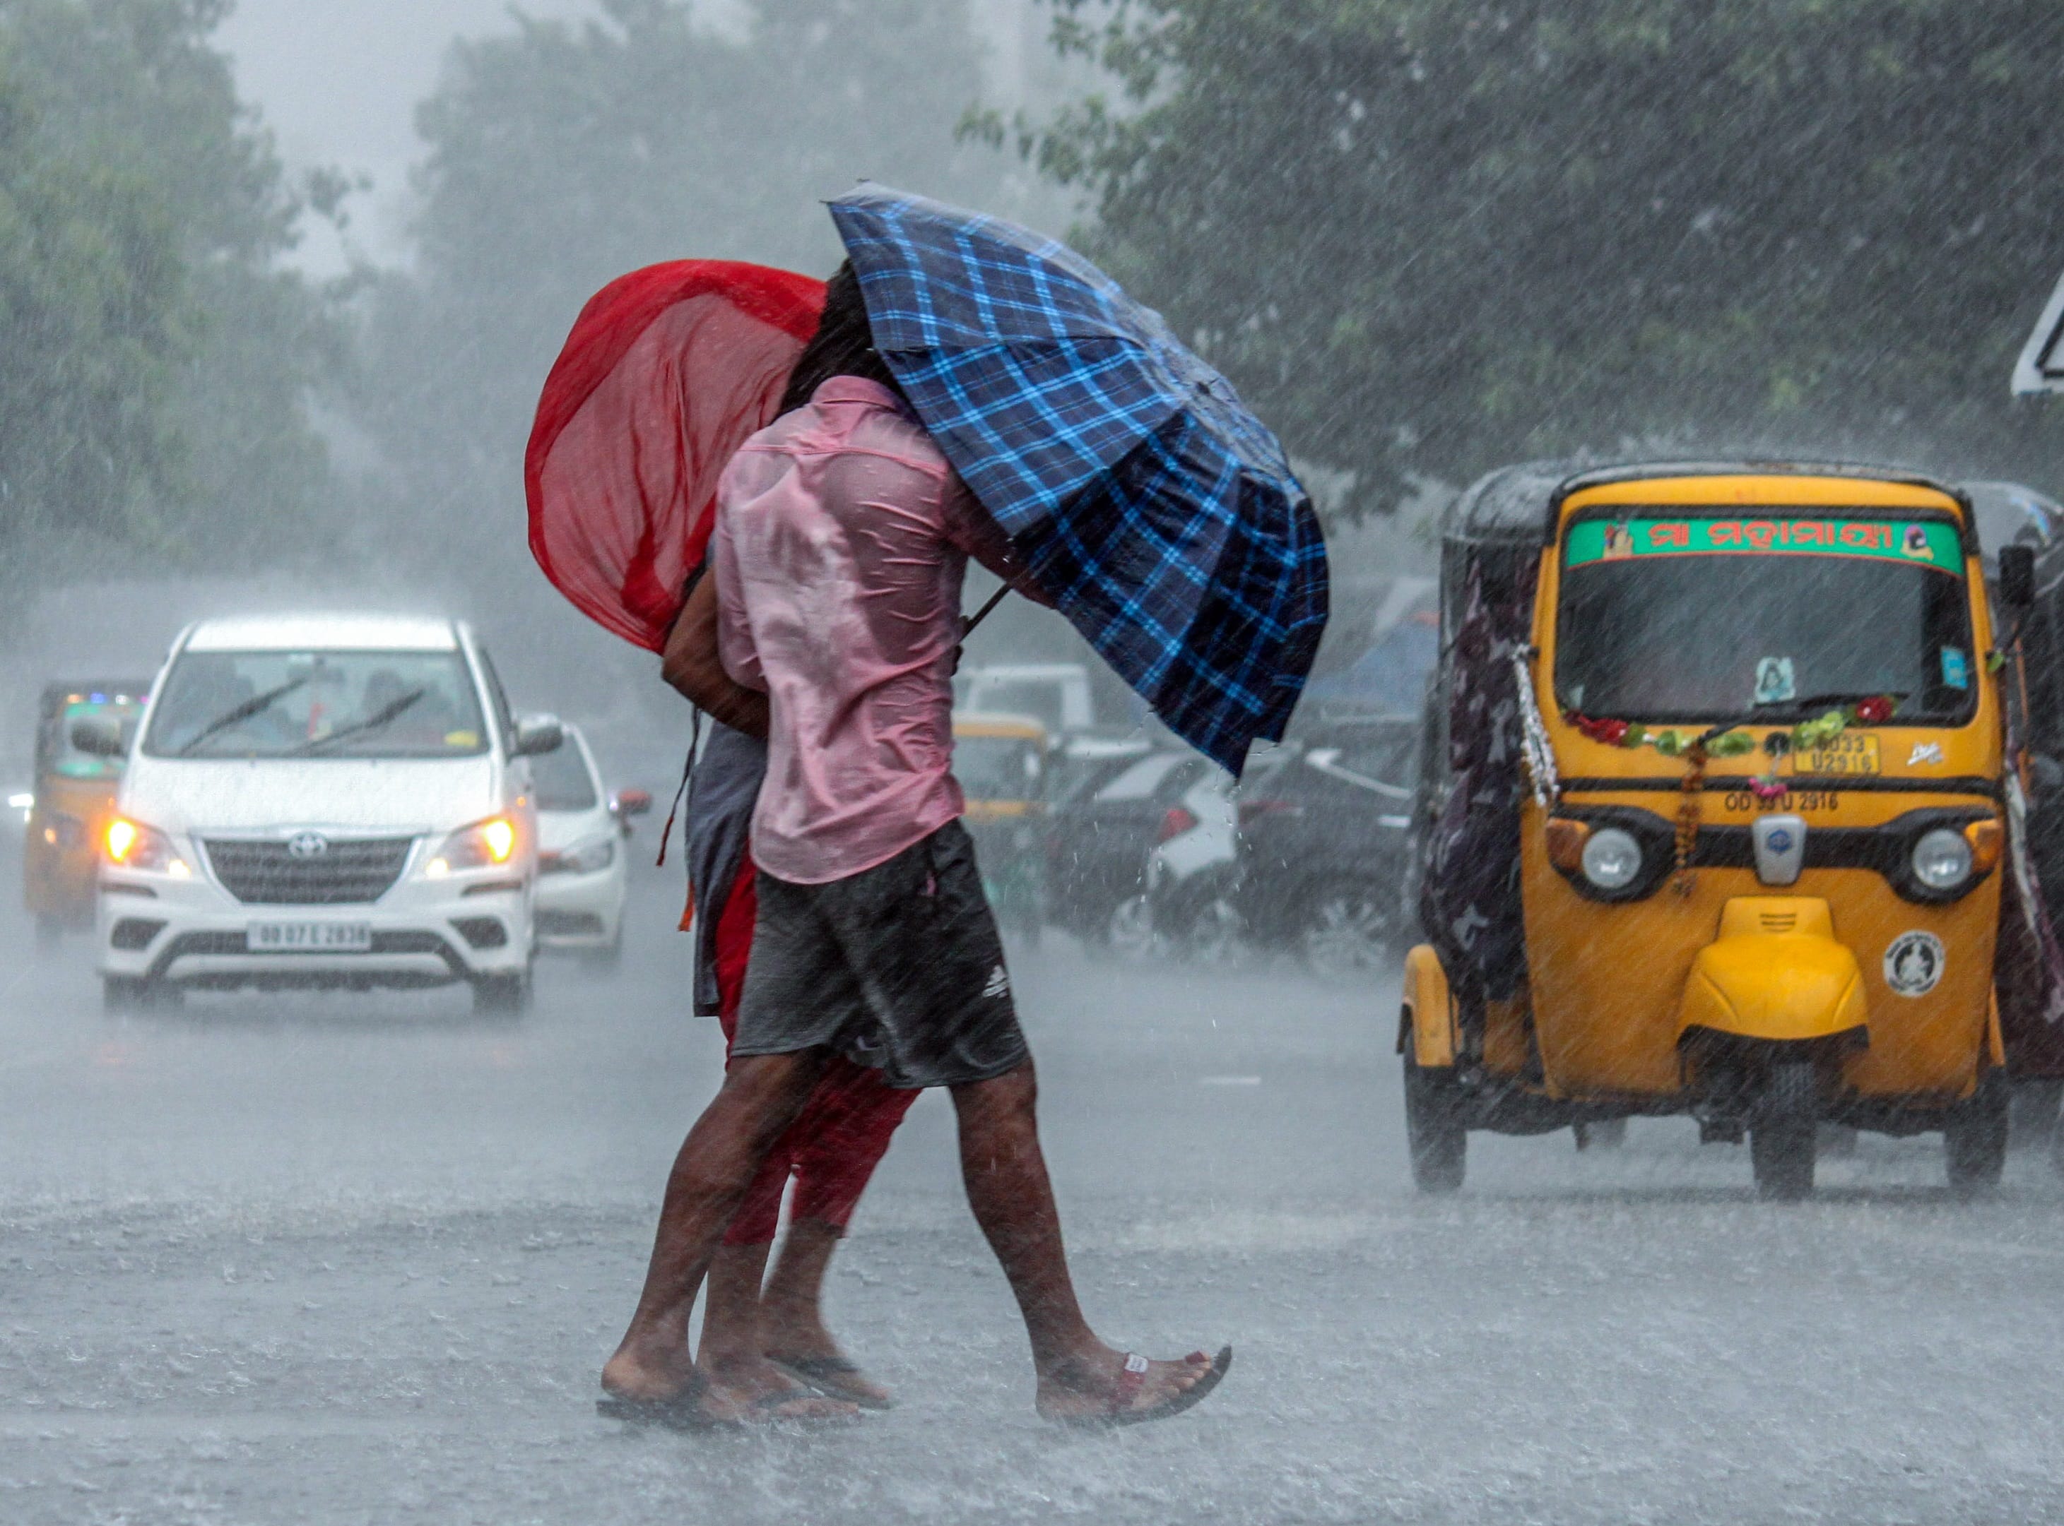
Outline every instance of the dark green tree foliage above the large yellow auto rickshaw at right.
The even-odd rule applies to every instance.
[[[1022,146],[1356,507],[1560,452],[2054,472],[2054,0],[1055,0]]]

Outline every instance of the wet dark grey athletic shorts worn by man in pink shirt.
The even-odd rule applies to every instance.
[[[962,1087],[1026,1062],[974,843],[949,821],[830,885],[760,872],[731,1054],[828,1048],[892,1087]]]

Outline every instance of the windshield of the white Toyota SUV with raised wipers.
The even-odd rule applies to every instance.
[[[153,757],[466,757],[487,749],[458,652],[186,652]]]

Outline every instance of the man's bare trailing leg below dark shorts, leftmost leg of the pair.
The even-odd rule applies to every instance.
[[[826,1050],[805,1050],[731,1062],[722,1089],[687,1132],[667,1177],[644,1293],[623,1345],[603,1367],[603,1388],[611,1394],[675,1398],[696,1380],[687,1349],[696,1291],[753,1173],[803,1112],[826,1058]],[[720,1413],[722,1402],[708,1408],[712,1419],[733,1419]]]

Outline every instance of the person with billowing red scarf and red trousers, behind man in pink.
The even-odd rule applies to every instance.
[[[665,656],[667,681],[718,722],[687,806],[696,1010],[727,1050],[755,916],[747,831],[766,773],[766,695],[724,676],[714,584],[700,577],[733,452],[821,379],[797,384],[824,283],[727,260],[675,260],[611,280],[582,309],[539,398],[524,458],[530,549],[568,600]],[[840,1060],[770,1153],[710,1268],[696,1417],[807,1419],[883,1406],[819,1312],[826,1266],[914,1093]],[[788,1237],[768,1260],[795,1184]],[[669,1219],[660,1219],[660,1246]],[[687,1320],[667,1328],[691,1365]],[[817,1390],[817,1392],[811,1392]],[[832,1398],[826,1398],[830,1394]]]

